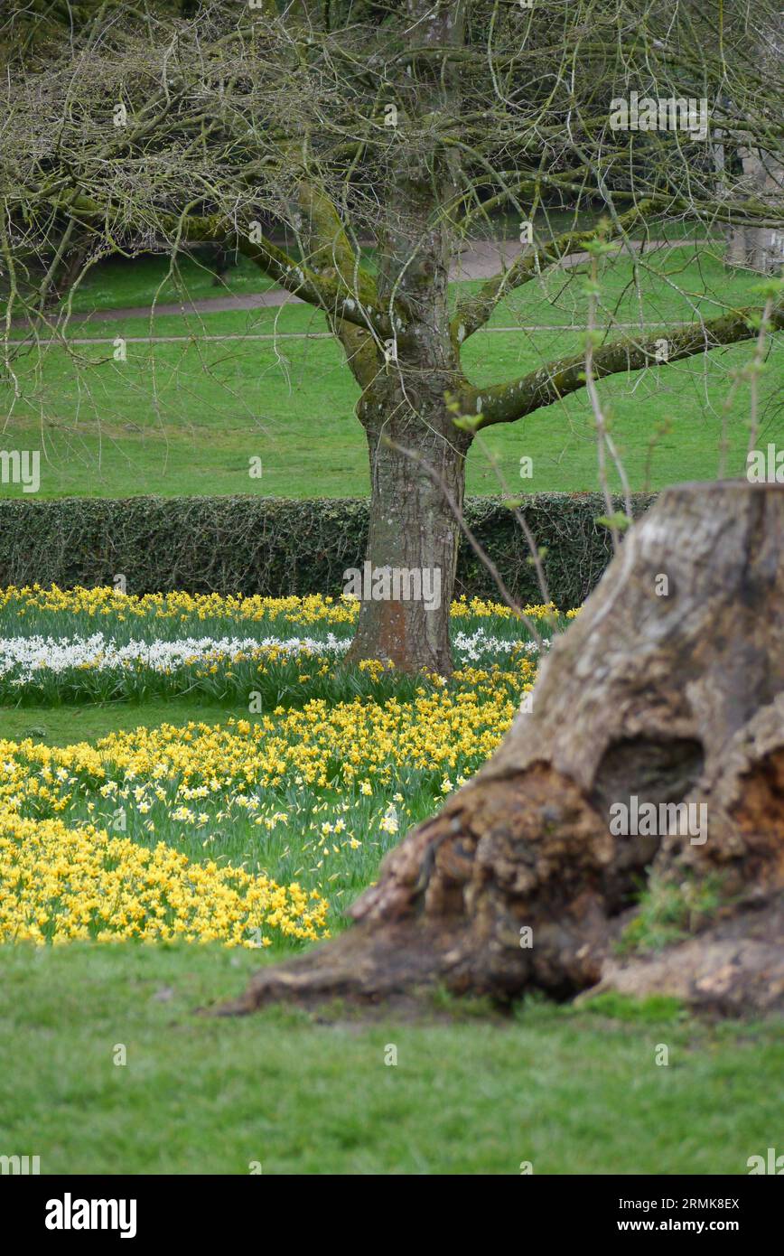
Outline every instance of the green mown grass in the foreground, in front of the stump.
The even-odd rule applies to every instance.
[[[781,1128],[773,1022],[619,999],[508,1020],[449,999],[416,1021],[193,1014],[258,965],[199,946],[5,951],[4,1149],[41,1173],[745,1174]]]

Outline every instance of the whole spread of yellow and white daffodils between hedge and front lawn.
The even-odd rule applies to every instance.
[[[545,641],[563,627],[526,612]],[[339,928],[398,835],[499,744],[538,659],[519,619],[474,602],[452,607],[449,683],[347,671],[356,614],[328,598],[0,592],[0,701],[85,701],[108,677],[113,697],[196,691],[249,711],[65,747],[0,727],[0,941],[291,947]]]

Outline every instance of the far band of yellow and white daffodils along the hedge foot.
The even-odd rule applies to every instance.
[[[353,598],[119,594],[112,588],[0,590],[0,703],[146,701],[188,693],[258,710],[322,697],[410,698],[416,682],[372,667],[335,671],[359,604]],[[564,617],[528,607],[545,648]],[[568,614],[574,614],[569,612]],[[455,602],[457,664],[508,666],[536,642],[503,605]]]

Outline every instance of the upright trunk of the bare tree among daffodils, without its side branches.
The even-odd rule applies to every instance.
[[[412,46],[462,41],[462,5],[410,0]],[[455,427],[450,394],[469,391],[450,330],[450,239],[438,206],[455,192],[454,171],[433,139],[412,146],[407,119],[456,108],[452,69],[418,67],[417,82],[398,98],[396,156],[384,196],[378,294],[384,308],[406,310],[406,334],[392,337],[357,407],[371,460],[371,570],[388,568],[416,593],[436,598],[363,599],[348,661],[381,658],[398,669],[452,669],[449,610],[457,564],[465,455],[470,436]],[[446,489],[446,494],[445,490]],[[447,496],[449,494],[449,496]],[[450,500],[452,504],[450,505]],[[435,604],[437,600],[437,604]]]

